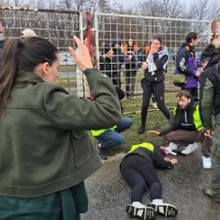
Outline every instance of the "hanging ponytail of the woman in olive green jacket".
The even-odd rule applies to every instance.
[[[12,85],[16,78],[19,70],[16,56],[21,44],[22,42],[19,38],[9,38],[3,48],[0,64],[0,116],[2,114],[4,105],[9,100]]]

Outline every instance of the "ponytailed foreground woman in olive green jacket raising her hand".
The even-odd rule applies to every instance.
[[[94,101],[56,86],[59,56],[47,40],[8,40],[0,67],[0,220],[78,220],[84,180],[101,162],[87,130],[111,128],[120,105],[110,79],[92,69],[87,47],[69,47]]]

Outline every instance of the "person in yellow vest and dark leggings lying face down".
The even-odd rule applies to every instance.
[[[172,169],[177,164],[176,158],[164,157],[157,144],[142,143],[132,145],[120,164],[120,172],[131,186],[131,205],[125,210],[131,217],[151,220],[155,215],[175,217],[178,211],[175,206],[164,204],[162,184],[155,167]],[[142,198],[150,188],[151,204],[143,205]]]

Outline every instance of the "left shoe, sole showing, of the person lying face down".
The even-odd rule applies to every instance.
[[[153,220],[155,219],[155,210],[151,207],[138,208],[132,205],[127,206],[127,213],[131,217],[140,218],[143,220]]]

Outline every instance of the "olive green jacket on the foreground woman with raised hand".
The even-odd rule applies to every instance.
[[[94,101],[20,73],[0,117],[0,195],[36,197],[75,186],[101,165],[87,132],[121,120],[111,80],[86,70]]]

